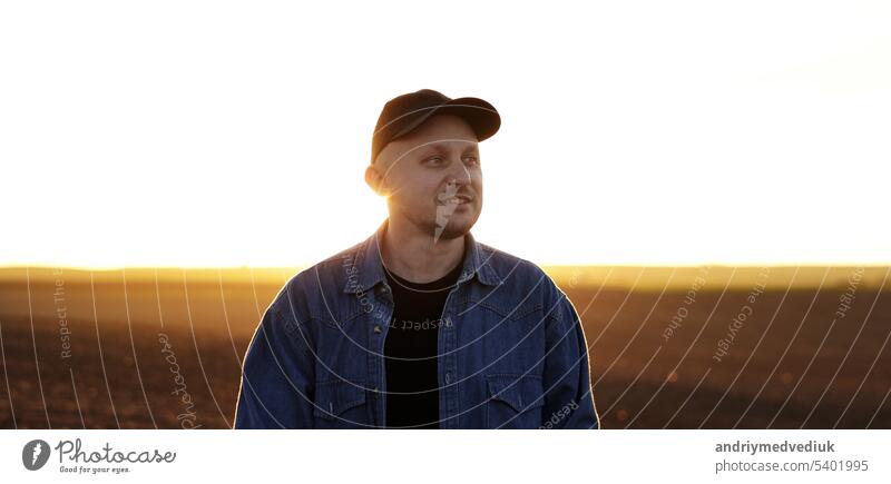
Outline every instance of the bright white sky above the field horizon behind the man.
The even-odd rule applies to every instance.
[[[313,3],[3,2],[0,265],[321,260],[385,217],[371,134],[422,88],[501,113],[502,250],[891,263],[889,2]]]

